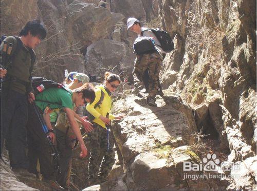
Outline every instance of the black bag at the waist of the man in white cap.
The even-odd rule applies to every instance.
[[[133,49],[137,55],[153,53],[156,51],[154,39],[151,37],[139,36],[134,41]]]

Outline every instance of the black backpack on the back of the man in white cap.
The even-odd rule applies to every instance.
[[[171,52],[174,49],[174,43],[171,39],[171,36],[168,32],[159,30],[159,29],[146,29],[141,32],[141,35],[143,36],[144,31],[152,31],[154,35],[157,37],[157,39],[160,42],[160,47],[165,52]],[[155,44],[156,45],[156,44]],[[157,45],[159,46],[159,45]]]

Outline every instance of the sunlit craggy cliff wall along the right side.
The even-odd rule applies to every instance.
[[[198,130],[216,131],[229,162],[256,158],[255,1],[160,2],[161,27],[175,42],[164,60],[163,87],[192,105]],[[247,169],[250,179],[254,171]],[[230,186],[251,187],[243,180]]]

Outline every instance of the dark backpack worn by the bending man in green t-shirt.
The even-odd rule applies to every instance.
[[[32,77],[31,79],[34,94],[39,94],[48,88],[63,88],[62,84],[46,79],[44,77]],[[66,90],[66,89],[65,89]]]

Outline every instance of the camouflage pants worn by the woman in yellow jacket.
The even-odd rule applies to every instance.
[[[106,181],[115,162],[112,132],[109,132],[109,151],[107,150],[107,130],[94,123],[94,130],[88,133],[90,158],[88,163],[88,181]]]

